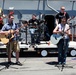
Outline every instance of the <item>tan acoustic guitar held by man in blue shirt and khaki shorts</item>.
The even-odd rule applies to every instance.
[[[20,30],[21,28],[27,26],[28,24],[23,24],[21,27],[18,28]],[[9,31],[2,31],[0,32],[0,41],[3,44],[7,44],[11,39],[14,38],[14,34],[16,33],[16,30],[9,30]]]

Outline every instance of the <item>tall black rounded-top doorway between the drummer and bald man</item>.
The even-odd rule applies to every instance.
[[[53,34],[53,29],[55,28],[55,17],[53,15],[46,15],[44,19],[47,27],[44,32],[44,37],[46,41],[49,41],[50,36]]]

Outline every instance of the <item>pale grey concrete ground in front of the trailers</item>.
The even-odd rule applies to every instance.
[[[22,57],[22,66],[11,64],[8,68],[6,62],[7,58],[0,58],[0,75],[76,75],[75,57],[67,57],[64,67],[57,65],[57,57]]]

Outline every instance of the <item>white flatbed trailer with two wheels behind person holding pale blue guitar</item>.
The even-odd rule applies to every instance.
[[[41,54],[41,56],[47,56],[49,53],[58,53],[57,45],[52,44],[51,42],[42,41],[41,44],[35,45],[34,49]],[[71,56],[76,56],[76,42],[69,42],[68,53]]]

